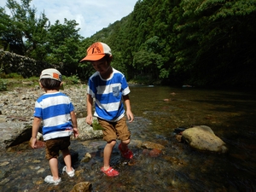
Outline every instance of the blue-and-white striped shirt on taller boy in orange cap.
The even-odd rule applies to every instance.
[[[90,76],[87,93],[95,98],[94,115],[108,121],[118,121],[125,115],[122,96],[130,93],[125,75],[113,68],[109,79],[102,79],[99,72]]]

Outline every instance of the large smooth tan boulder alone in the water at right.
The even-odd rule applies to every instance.
[[[228,150],[225,143],[206,125],[186,129],[183,131],[182,137],[190,147],[202,151],[225,153]]]

